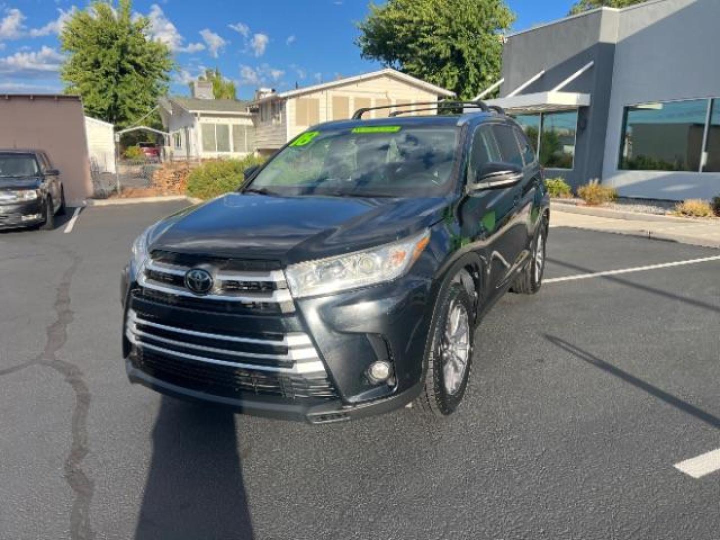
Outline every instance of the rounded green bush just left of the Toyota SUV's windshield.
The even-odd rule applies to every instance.
[[[187,194],[199,199],[212,199],[234,192],[243,183],[243,171],[264,159],[248,156],[243,159],[206,161],[194,168],[187,179]]]

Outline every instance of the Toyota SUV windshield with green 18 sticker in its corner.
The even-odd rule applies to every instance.
[[[361,126],[308,131],[248,191],[284,195],[432,197],[450,188],[457,128]]]

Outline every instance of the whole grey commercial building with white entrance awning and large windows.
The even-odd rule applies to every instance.
[[[509,35],[498,104],[546,176],[621,196],[720,195],[720,0],[600,8]]]

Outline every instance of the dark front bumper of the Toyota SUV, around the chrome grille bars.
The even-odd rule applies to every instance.
[[[174,397],[225,405],[240,413],[310,423],[386,413],[402,408],[420,393],[432,306],[430,279],[408,274],[390,284],[296,300],[290,315],[258,318],[154,305],[138,294],[140,286],[132,274],[130,269],[123,274],[122,297],[125,305],[123,352],[127,375],[133,383]],[[266,376],[268,372],[256,375],[247,365],[237,369],[228,364],[215,366],[192,358],[194,355],[158,358],[158,354],[163,354],[158,353],[158,349],[148,351],[142,343],[133,343],[128,338],[128,313],[132,314],[132,328],[136,312],[169,325],[192,324],[197,320],[214,333],[228,332],[230,328],[302,331],[317,351],[326,377],[323,380],[332,392],[323,390],[322,398],[312,394],[298,397],[296,387],[302,392],[306,387],[320,388],[325,382],[278,374]],[[378,360],[392,364],[394,376],[390,383],[369,381],[367,370]],[[254,391],[248,381],[256,387]],[[257,390],[257,387],[271,385],[276,393],[277,388],[292,387],[293,390],[290,395],[263,395]]]

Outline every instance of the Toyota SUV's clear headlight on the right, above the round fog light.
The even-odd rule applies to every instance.
[[[288,266],[287,284],[296,298],[366,287],[405,274],[430,241],[430,232],[377,248]]]

